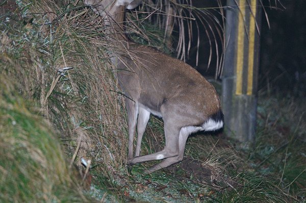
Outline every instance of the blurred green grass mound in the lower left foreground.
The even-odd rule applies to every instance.
[[[0,78],[0,201],[92,202],[78,186],[78,173],[69,169],[50,123]]]

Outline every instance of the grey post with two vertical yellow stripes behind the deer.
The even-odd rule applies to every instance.
[[[259,0],[227,0],[226,50],[222,75],[225,133],[252,143],[256,132]]]

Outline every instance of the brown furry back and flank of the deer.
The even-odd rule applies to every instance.
[[[183,61],[143,45],[131,45],[130,55],[124,59],[124,70],[118,74],[120,86],[150,110],[161,112],[168,103],[203,121],[219,111],[215,88]]]

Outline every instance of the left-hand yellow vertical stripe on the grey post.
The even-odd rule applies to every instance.
[[[239,0],[240,14],[238,18],[237,67],[236,67],[236,94],[242,94],[242,70],[244,53],[244,16],[245,0]]]

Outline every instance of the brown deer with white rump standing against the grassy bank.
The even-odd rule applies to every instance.
[[[190,134],[223,128],[220,99],[211,83],[187,63],[156,48],[134,43],[125,35],[125,9],[136,8],[141,0],[84,0],[84,3],[103,18],[108,27],[107,40],[114,44],[109,48],[113,52],[110,58],[125,95],[129,129],[127,165],[161,160],[144,173],[168,167],[183,160]],[[150,114],[164,121],[165,146],[161,151],[140,156]]]

